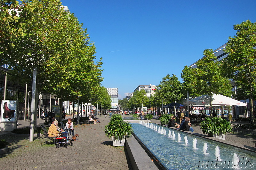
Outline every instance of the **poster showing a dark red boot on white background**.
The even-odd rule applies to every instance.
[[[1,123],[16,122],[18,100],[2,100]]]

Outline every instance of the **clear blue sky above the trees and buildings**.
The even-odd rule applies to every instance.
[[[61,0],[84,24],[96,57],[103,58],[102,86],[118,87],[118,98],[138,85],[159,85],[167,74],[202,58],[236,31],[256,22],[255,0]]]

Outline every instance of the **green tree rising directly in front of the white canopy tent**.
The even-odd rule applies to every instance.
[[[196,63],[197,68],[185,67],[182,70],[184,86],[190,89],[193,94],[207,94],[210,97],[213,94],[222,94],[230,97],[231,84],[229,79],[223,76],[220,64],[216,61],[212,49],[204,50],[204,57]],[[190,78],[189,75],[191,75]],[[212,116],[212,98],[210,116]]]

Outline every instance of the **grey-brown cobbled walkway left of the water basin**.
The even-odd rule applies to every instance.
[[[10,143],[9,152],[0,155],[1,169],[132,169],[124,147],[113,147],[112,140],[104,136],[104,128],[110,119],[105,116],[98,118],[99,124],[74,126],[79,137],[68,148],[55,148],[53,144],[41,147],[40,137],[29,142],[28,137],[0,136]],[[37,121],[38,124],[40,122],[43,120]],[[22,121],[19,123],[19,128],[29,125]]]

